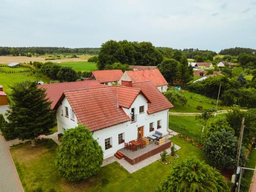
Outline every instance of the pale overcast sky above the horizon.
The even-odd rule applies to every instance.
[[[256,49],[256,0],[0,0],[0,46]]]

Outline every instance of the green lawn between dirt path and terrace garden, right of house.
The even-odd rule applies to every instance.
[[[207,124],[214,121],[215,118],[225,118],[225,114],[217,115],[208,120]],[[174,130],[181,135],[188,136],[200,142],[203,126],[202,122],[196,120],[195,116],[169,115],[169,129]]]

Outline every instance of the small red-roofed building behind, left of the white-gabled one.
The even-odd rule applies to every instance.
[[[113,83],[117,83],[122,75],[122,70],[98,70],[92,71],[91,79],[96,79],[99,83],[111,86]]]

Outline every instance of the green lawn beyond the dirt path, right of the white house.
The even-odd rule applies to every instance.
[[[181,112],[181,113],[198,113],[200,112],[197,110],[197,106],[201,105],[203,108],[216,108],[216,99],[211,99],[209,97],[205,97],[200,94],[188,92],[188,91],[181,91],[182,95],[184,95],[187,99],[187,103],[182,106],[180,103],[173,103],[174,108],[170,110],[170,112]],[[226,110],[230,109],[228,106],[220,106],[218,105],[217,110]]]

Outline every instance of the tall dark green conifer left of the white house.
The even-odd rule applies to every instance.
[[[9,106],[7,119],[8,128],[13,129],[17,138],[31,139],[49,134],[55,122],[51,102],[46,98],[45,90],[37,89],[36,82],[24,81],[12,87],[13,104]]]

